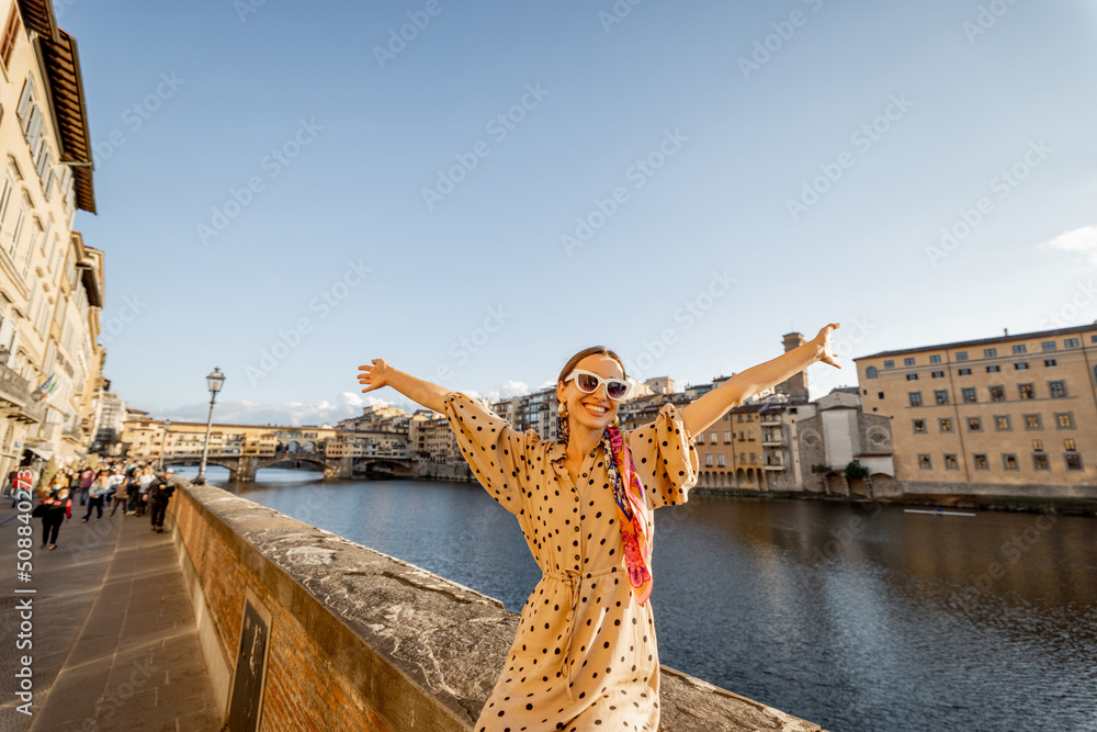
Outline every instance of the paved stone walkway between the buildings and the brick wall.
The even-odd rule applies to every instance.
[[[0,505],[0,521],[13,516]],[[199,645],[194,613],[171,544],[147,516],[94,516],[61,526],[57,549],[38,549],[16,582],[15,518],[0,526],[0,730],[203,732],[222,729]],[[15,595],[33,587],[34,595]],[[18,603],[33,598],[33,650],[16,650]],[[18,658],[33,658],[33,717],[16,711]]]

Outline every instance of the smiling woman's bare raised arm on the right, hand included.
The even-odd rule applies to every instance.
[[[791,351],[778,356],[771,361],[750,367],[735,374],[719,388],[714,388],[682,407],[682,419],[690,435],[697,435],[724,416],[736,404],[750,398],[758,392],[780,384],[782,381],[798,374],[811,364],[823,361],[838,369],[837,357],[834,354],[834,342],[830,331],[839,326],[832,323],[819,330],[812,340],[798,346]]]

